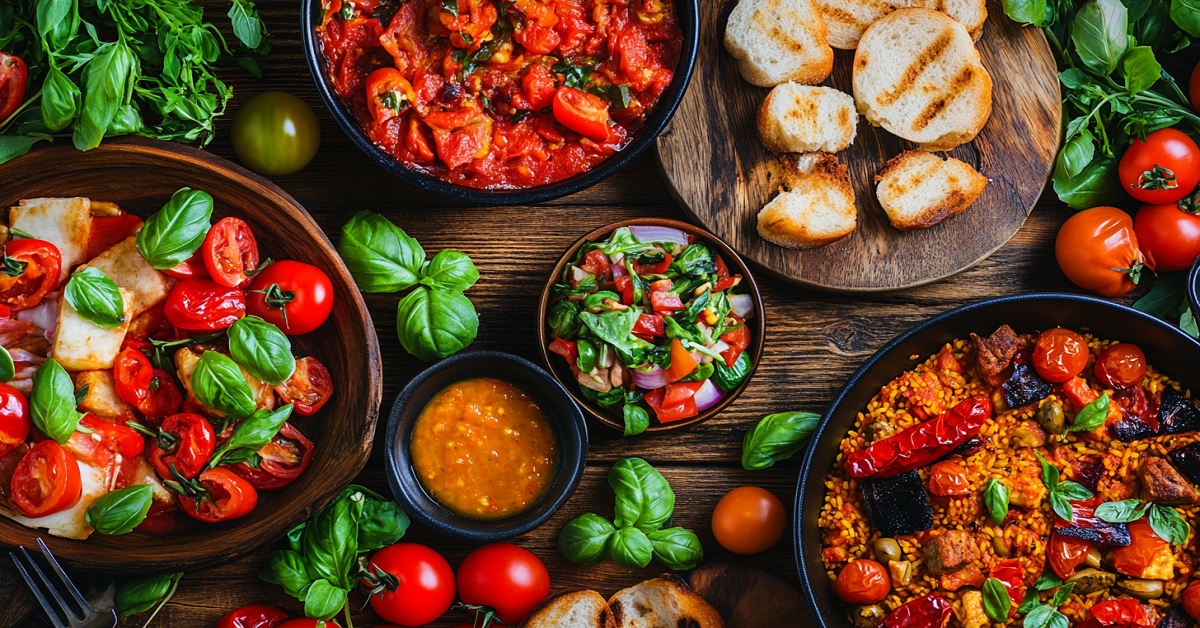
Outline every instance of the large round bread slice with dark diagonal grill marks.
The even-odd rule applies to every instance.
[[[868,121],[925,150],[974,139],[991,115],[991,77],[966,28],[928,8],[899,8],[871,24],[853,82]]]

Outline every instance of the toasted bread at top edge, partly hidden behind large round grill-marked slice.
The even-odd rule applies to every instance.
[[[988,20],[986,0],[814,0],[826,20],[829,46],[841,50],[858,48],[866,28],[898,8],[925,7],[959,20],[979,41]]]

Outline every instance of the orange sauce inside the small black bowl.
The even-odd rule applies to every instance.
[[[550,417],[500,379],[467,379],[438,393],[416,418],[412,454],[425,490],[472,519],[524,510],[558,467]]]

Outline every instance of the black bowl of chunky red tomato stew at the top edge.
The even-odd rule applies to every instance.
[[[577,192],[649,146],[696,60],[697,0],[304,0],[305,54],[350,139],[472,204]]]

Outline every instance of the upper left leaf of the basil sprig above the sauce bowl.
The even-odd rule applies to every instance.
[[[342,226],[337,252],[362,292],[410,288],[425,263],[425,250],[420,243],[371,211],[359,211]]]

